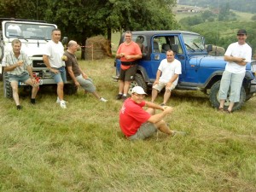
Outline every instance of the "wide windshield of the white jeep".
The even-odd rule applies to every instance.
[[[38,23],[5,23],[6,38],[24,38],[24,39],[51,39],[51,31],[55,29],[54,25],[45,25]]]

